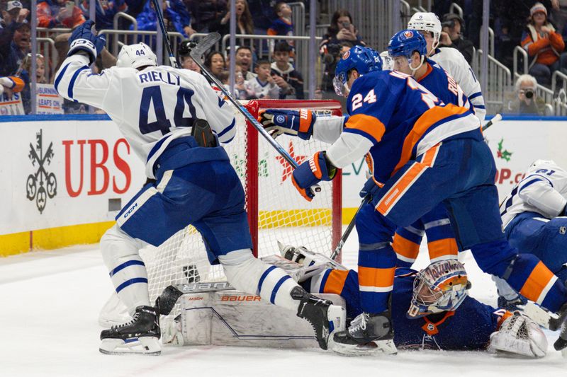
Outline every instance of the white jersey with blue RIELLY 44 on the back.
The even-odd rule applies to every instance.
[[[207,120],[223,143],[236,132],[232,107],[204,76],[188,69],[115,66],[93,74],[89,58],[74,54],[57,71],[55,89],[64,98],[104,110],[146,163],[150,178],[159,155],[173,139],[191,134],[196,118]]]

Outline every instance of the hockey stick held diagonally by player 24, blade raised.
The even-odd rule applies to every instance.
[[[156,1],[156,0],[153,0]],[[286,151],[285,149],[283,149],[283,147],[276,141],[274,140],[273,137],[271,137],[271,135],[264,129],[264,127],[262,127],[262,124],[260,124],[258,122],[258,120],[252,116],[252,114],[250,114],[250,112],[247,110],[247,108],[245,108],[242,103],[240,103],[239,100],[237,100],[236,98],[234,98],[234,96],[232,95],[232,93],[230,93],[230,91],[228,91],[225,86],[223,86],[223,83],[221,83],[220,81],[218,81],[218,79],[213,76],[213,74],[210,73],[210,71],[208,71],[208,69],[203,66],[203,63],[201,63],[201,57],[203,56],[203,53],[206,52],[207,50],[210,49],[210,47],[213,47],[213,45],[215,45],[216,42],[218,42],[220,40],[220,34],[219,33],[209,33],[208,35],[206,35],[205,37],[203,37],[203,39],[198,42],[197,46],[195,48],[193,48],[193,50],[191,50],[191,52],[189,53],[189,55],[191,56],[191,58],[193,59],[193,61],[195,62],[195,64],[197,64],[199,66],[199,68],[201,68],[201,73],[206,76],[206,78],[214,83],[218,89],[223,92],[223,94],[226,96],[226,98],[228,98],[228,100],[230,101],[230,103],[232,103],[232,105],[235,105],[235,107],[237,108],[237,110],[244,115],[244,117],[246,118],[246,120],[248,120],[248,122],[250,122],[250,124],[252,124],[252,126],[259,132],[259,134],[262,135],[262,137],[264,137],[264,139],[266,139],[266,141],[269,142],[269,144],[271,146],[274,147],[274,149],[276,149],[276,151],[278,151],[278,153],[294,168],[296,169],[298,167],[298,163],[291,158],[290,154],[288,153],[288,151]],[[320,192],[321,191],[321,187],[319,185],[314,185],[313,187],[311,187],[311,190],[315,193],[315,192]]]

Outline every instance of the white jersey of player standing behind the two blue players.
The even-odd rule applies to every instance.
[[[476,79],[473,69],[468,65],[463,54],[453,47],[441,47],[435,50],[430,59],[442,66],[456,80],[471,101],[476,117],[484,122],[486,108],[481,83]]]

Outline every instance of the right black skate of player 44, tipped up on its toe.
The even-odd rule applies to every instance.
[[[301,286],[291,290],[291,297],[299,300],[297,316],[307,320],[315,331],[315,339],[319,347],[327,349],[330,335],[335,329],[344,328],[346,313],[342,306],[332,305],[324,300],[309,294]]]

